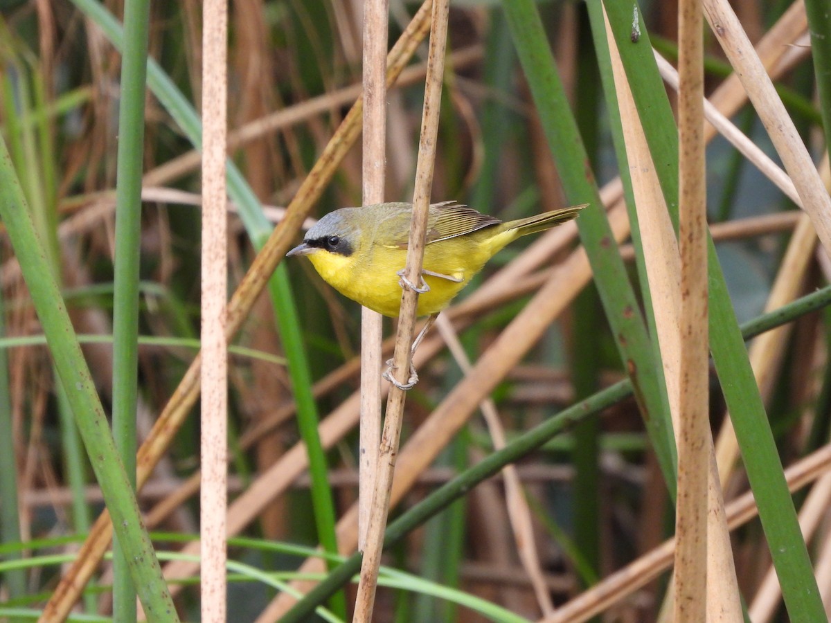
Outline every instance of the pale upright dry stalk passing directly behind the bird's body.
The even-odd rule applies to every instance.
[[[363,204],[384,201],[386,175],[386,40],[389,0],[363,3]],[[381,443],[381,314],[361,307],[361,419],[358,449],[358,550],[375,491]]]

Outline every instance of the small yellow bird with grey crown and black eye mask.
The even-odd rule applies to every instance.
[[[420,294],[416,314],[430,316],[413,342],[415,352],[436,316],[505,245],[566,223],[587,205],[502,222],[455,201],[431,204],[418,285],[404,276],[413,213],[409,203],[372,204],[327,213],[287,257],[306,256],[323,281],[384,316],[398,316],[402,287],[415,289]],[[417,380],[414,370],[412,376]],[[410,389],[406,386],[410,383],[399,384],[388,374],[385,378],[404,385],[401,389]]]

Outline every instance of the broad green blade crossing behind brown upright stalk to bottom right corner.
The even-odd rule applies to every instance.
[[[637,43],[630,38],[632,4],[604,2],[641,123],[657,167],[673,221],[678,214],[678,137],[675,120],[658,75],[648,33],[642,25]],[[750,486],[770,547],[785,604],[794,621],[824,620],[814,571],[799,530],[753,370],[730,302],[715,247],[710,241],[710,340]]]

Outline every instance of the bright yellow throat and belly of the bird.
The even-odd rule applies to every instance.
[[[472,237],[428,244],[424,269],[452,280],[425,275],[430,290],[419,296],[416,313],[429,316],[447,307],[492,255],[491,245]],[[405,265],[405,248],[377,247],[372,253],[356,253],[350,257],[313,253],[309,259],[320,276],[344,296],[384,316],[398,316],[402,290],[396,272]]]

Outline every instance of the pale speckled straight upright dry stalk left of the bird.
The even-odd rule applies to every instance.
[[[199,533],[202,621],[226,620],[225,518],[228,506],[228,4],[204,3],[202,33],[202,422]]]

